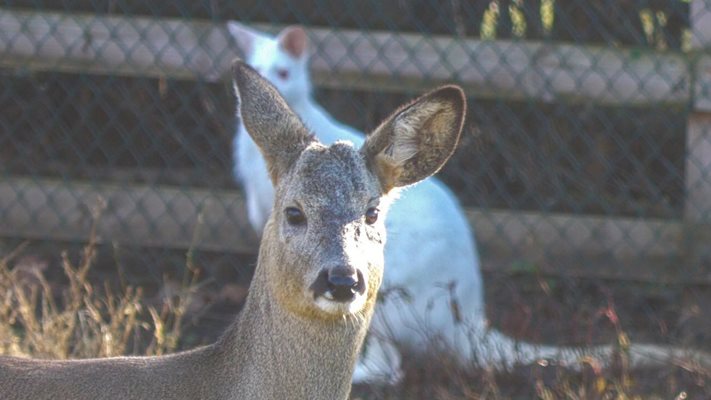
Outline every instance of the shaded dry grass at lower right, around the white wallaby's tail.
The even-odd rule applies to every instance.
[[[519,365],[495,372],[475,365],[460,366],[446,353],[405,354],[405,378],[397,386],[358,385],[353,399],[438,400],[647,400],[709,399],[711,370],[691,359],[675,358],[663,365],[632,367],[630,335],[613,304],[601,313],[613,328],[609,344],[617,351],[609,359],[583,357],[580,368],[554,361]],[[670,341],[674,343],[673,340]],[[605,343],[596,343],[605,344]]]

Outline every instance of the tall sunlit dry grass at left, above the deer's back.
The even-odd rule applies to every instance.
[[[46,359],[160,355],[178,345],[183,316],[195,287],[190,268],[181,290],[146,306],[140,287],[89,280],[96,235],[77,260],[61,257],[66,283],[48,281],[46,263],[20,246],[0,260],[0,354]]]

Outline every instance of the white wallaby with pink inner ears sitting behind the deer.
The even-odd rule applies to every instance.
[[[276,37],[234,21],[228,22],[228,29],[246,61],[279,89],[320,140],[364,140],[360,132],[336,121],[313,99],[309,40],[303,28],[291,26]],[[235,175],[245,191],[250,222],[260,232],[271,212],[273,188],[264,161],[241,124],[234,145]],[[415,352],[436,343],[464,365],[494,369],[541,358],[571,367],[579,367],[583,355],[610,358],[611,346],[540,346],[489,328],[474,234],[455,196],[435,178],[403,191],[386,223],[384,295],[354,382],[399,379],[401,358],[391,340]],[[637,344],[630,353],[634,363],[645,364],[686,354],[681,349]]]

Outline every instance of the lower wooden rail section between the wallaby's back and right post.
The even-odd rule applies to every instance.
[[[508,210],[467,214],[480,246],[534,263],[560,256],[670,257],[678,255],[684,239],[678,220]]]

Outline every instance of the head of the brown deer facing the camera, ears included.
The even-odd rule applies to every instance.
[[[360,148],[325,146],[259,73],[233,66],[240,114],[275,186],[260,265],[281,306],[302,316],[372,311],[395,189],[437,172],[454,151],[465,97],[442,87],[387,118]],[[403,227],[406,229],[406,227]]]

